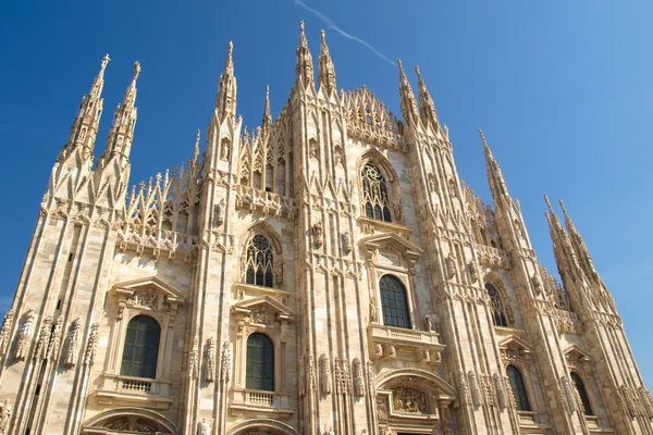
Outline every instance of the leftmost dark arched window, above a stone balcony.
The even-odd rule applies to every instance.
[[[148,315],[137,315],[127,325],[120,374],[124,376],[157,376],[161,326]]]

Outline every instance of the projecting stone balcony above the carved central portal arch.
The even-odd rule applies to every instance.
[[[446,347],[440,343],[440,334],[433,331],[416,331],[370,323],[368,340],[372,359],[403,359],[423,363],[442,362]]]

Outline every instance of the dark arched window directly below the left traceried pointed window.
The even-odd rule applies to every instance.
[[[249,389],[274,390],[274,345],[264,334],[247,339],[247,381]]]

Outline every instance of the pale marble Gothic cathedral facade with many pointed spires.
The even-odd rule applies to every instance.
[[[399,120],[301,23],[247,130],[232,54],[190,158],[134,187],[140,66],[101,148],[102,59],[0,330],[0,434],[653,434],[564,204],[558,283],[482,133],[493,203],[459,178],[419,69]]]

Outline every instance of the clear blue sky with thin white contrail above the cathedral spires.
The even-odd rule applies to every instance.
[[[653,388],[652,2],[305,0],[391,60],[419,64],[448,125],[458,172],[489,199],[478,128],[521,201],[541,261],[555,271],[542,199],[563,198],[615,296]],[[397,70],[329,29],[293,0],[4,2],[0,7],[0,140],[7,228],[0,308],[11,302],[52,163],[82,96],[109,53],[104,147],[115,105],[140,61],[132,183],[192,156],[206,130],[226,44],[234,41],[238,112],[273,116],[294,80],[298,22],[317,61],[319,32],[337,85],[366,84],[399,114]]]

